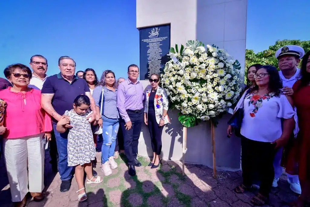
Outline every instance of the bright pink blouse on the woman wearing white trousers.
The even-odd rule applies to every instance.
[[[51,132],[51,117],[41,107],[41,91],[12,92],[11,87],[0,91],[0,98],[7,103],[4,138],[22,138]]]

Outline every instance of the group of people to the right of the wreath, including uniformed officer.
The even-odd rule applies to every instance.
[[[310,201],[310,51],[295,45],[276,52],[280,71],[272,65],[251,65],[247,85],[235,113],[243,111],[241,168],[243,182],[236,193],[259,189],[251,203],[268,203],[271,187],[277,187],[285,167],[290,189],[301,194],[292,206]],[[298,68],[302,59],[301,69]],[[232,135],[228,125],[228,137]]]

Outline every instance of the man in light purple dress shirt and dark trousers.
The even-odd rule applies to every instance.
[[[121,115],[120,126],[124,136],[125,154],[128,159],[128,173],[136,174],[135,166],[140,167],[137,160],[138,143],[143,123],[144,92],[138,81],[139,67],[135,64],[128,66],[128,79],[117,88],[117,108]]]

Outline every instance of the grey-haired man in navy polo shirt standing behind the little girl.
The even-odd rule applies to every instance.
[[[41,105],[52,116],[53,128],[59,154],[58,171],[60,174],[60,191],[69,191],[73,178],[73,167],[68,167],[68,132],[59,133],[56,124],[66,110],[73,109],[74,99],[85,94],[91,100],[92,119],[98,119],[95,101],[91,96],[89,87],[84,79],[75,76],[75,61],[69,56],[62,56],[58,60],[59,74],[47,77],[41,90]],[[99,120],[99,119],[98,119]]]

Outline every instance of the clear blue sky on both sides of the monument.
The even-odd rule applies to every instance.
[[[41,54],[52,75],[59,72],[58,58],[68,55],[77,70],[125,76],[129,64],[139,65],[135,0],[88,2],[0,1],[0,68],[28,65],[32,55]],[[309,8],[308,0],[248,0],[247,48],[258,52],[277,39],[309,40]]]

